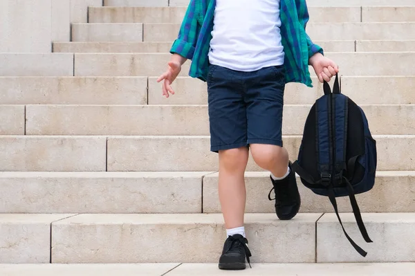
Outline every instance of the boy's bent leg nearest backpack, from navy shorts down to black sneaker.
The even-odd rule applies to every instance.
[[[300,198],[295,173],[282,147],[282,113],[285,89],[284,66],[270,66],[252,73],[246,93],[248,144],[255,163],[271,172],[275,212],[279,219],[292,219]],[[268,195],[268,199],[272,200]]]

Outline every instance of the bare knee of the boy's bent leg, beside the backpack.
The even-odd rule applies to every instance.
[[[251,145],[251,154],[255,163],[263,169],[271,169],[279,163],[288,163],[286,149],[275,145]]]

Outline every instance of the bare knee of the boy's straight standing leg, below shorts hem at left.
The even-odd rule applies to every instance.
[[[244,171],[248,163],[248,148],[225,149],[219,151],[219,166],[227,171]]]

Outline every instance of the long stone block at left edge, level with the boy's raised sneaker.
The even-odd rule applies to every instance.
[[[200,213],[209,172],[2,172],[0,212]]]

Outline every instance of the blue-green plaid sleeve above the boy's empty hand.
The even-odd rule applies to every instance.
[[[199,22],[197,20],[196,1],[191,0],[181,28],[178,32],[178,37],[174,41],[170,53],[181,55],[187,59],[192,59],[194,55],[194,49],[196,48],[197,38],[200,32]]]

